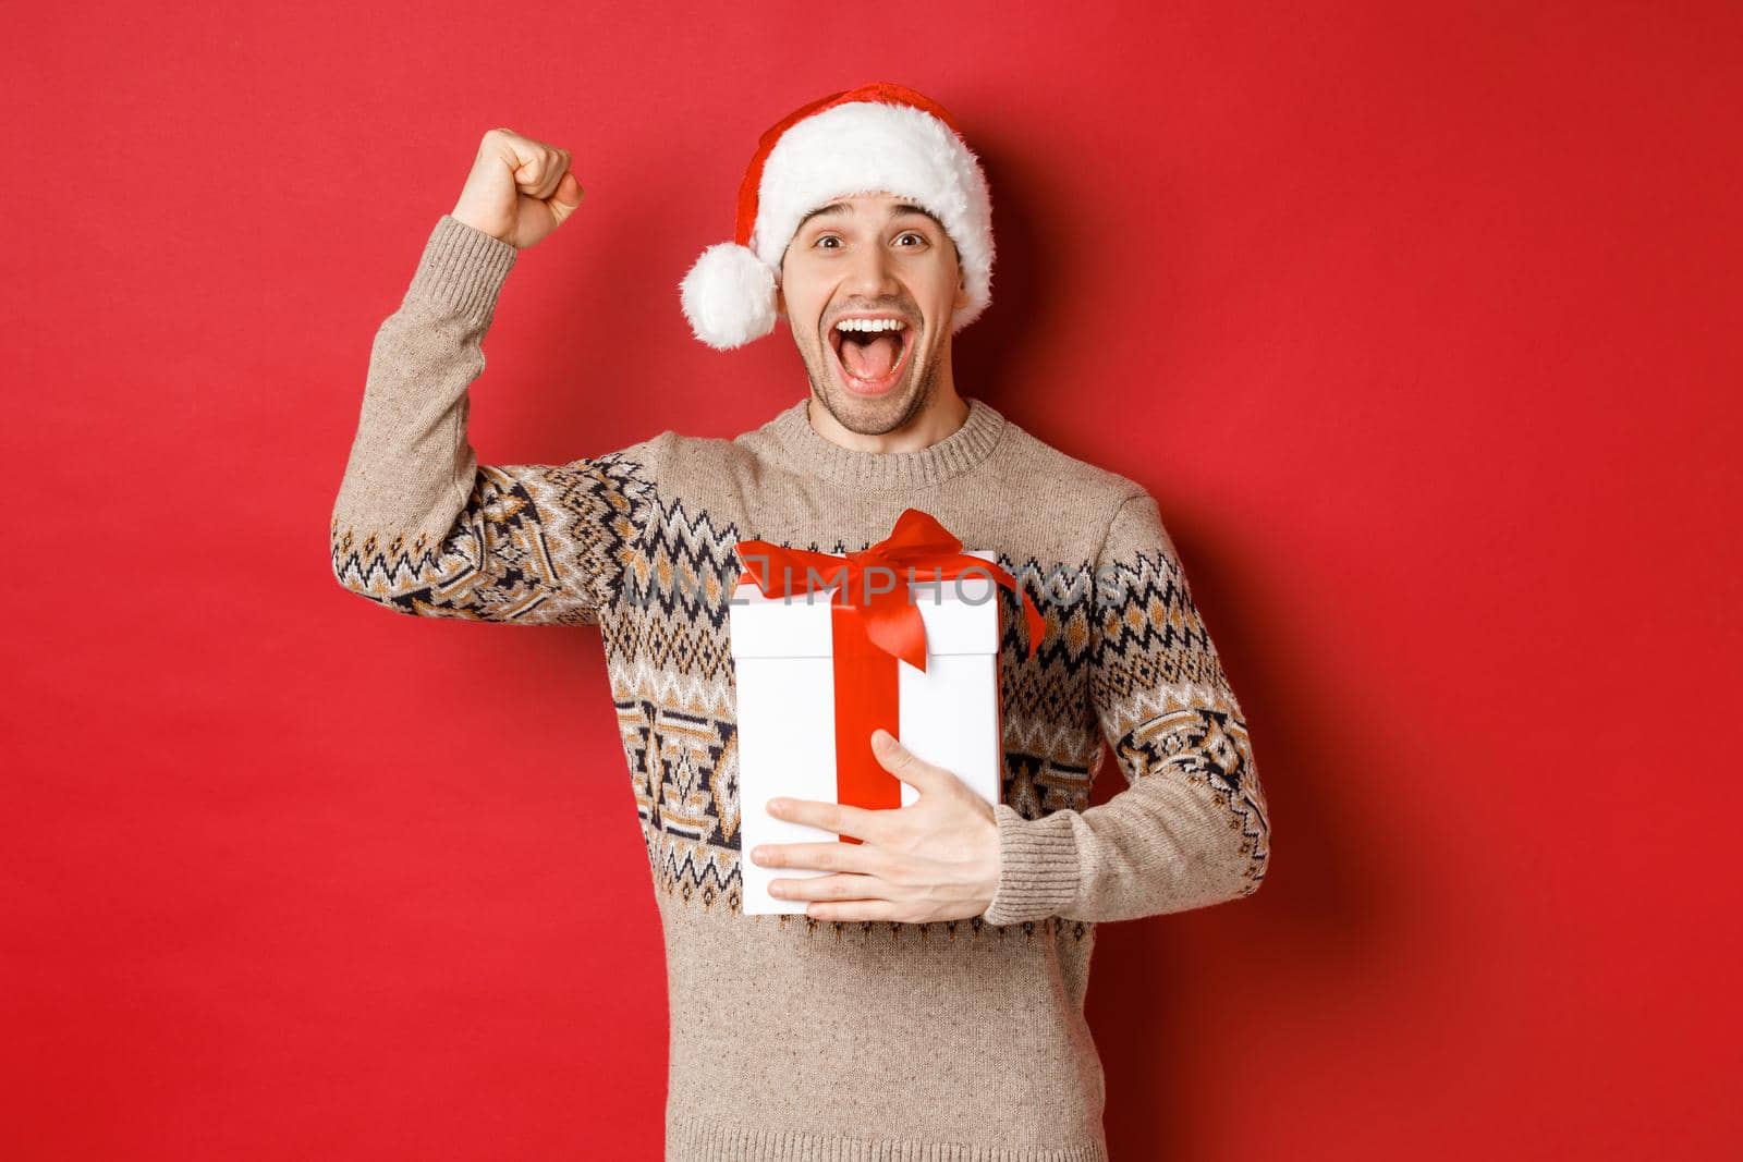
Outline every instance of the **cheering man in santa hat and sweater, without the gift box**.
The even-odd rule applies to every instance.
[[[671,1159],[1105,1159],[1082,1017],[1095,925],[1248,895],[1269,861],[1246,725],[1157,505],[962,397],[990,301],[985,178],[934,101],[877,84],[763,134],[734,242],[680,286],[730,348],[784,317],[809,392],[730,441],[668,429],[563,465],[479,465],[467,387],[519,251],[582,200],[566,150],[485,136],[376,334],[333,570],[389,610],[596,624],[666,937]],[[899,810],[800,801],[859,843],[777,845],[802,916],[741,909],[727,599],[739,540],[845,554],[919,507],[992,549],[1002,801],[878,732]],[[1089,807],[1102,735],[1126,786]]]

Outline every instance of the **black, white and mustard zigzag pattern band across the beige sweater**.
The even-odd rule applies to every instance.
[[[1140,500],[1140,498],[1135,498]],[[540,512],[546,514],[540,517]],[[713,528],[706,514],[690,521],[683,505],[662,507],[641,465],[608,453],[566,465],[479,467],[465,507],[448,537],[432,542],[333,528],[333,568],[340,582],[389,608],[424,617],[460,617],[519,624],[600,624],[612,659],[614,697],[624,754],[636,779],[636,805],[655,885],[704,908],[723,901],[739,908],[736,747],[730,716],[685,706],[722,704],[730,683],[723,585],[743,564],[732,551],[734,524]],[[786,542],[783,542],[786,544]],[[804,549],[849,552],[870,542]],[[566,564],[563,564],[566,563]],[[1042,610],[1046,632],[1034,659],[1037,678],[1016,679],[1025,641],[1014,625],[1016,598],[1000,589],[1000,699],[1013,730],[1025,721],[1056,721],[1067,692],[1091,671],[1096,704],[1110,707],[1103,726],[1117,739],[1121,770],[1135,777],[1170,772],[1224,798],[1250,859],[1243,894],[1258,888],[1265,866],[1265,821],[1251,747],[1239,707],[1225,697],[1227,679],[1171,554],[1133,552],[1114,559],[1119,605],[1093,610],[1089,563],[1042,566],[1034,557],[999,564],[1025,578]],[[589,587],[565,585],[575,577]],[[1051,580],[1037,587],[1035,580]],[[1107,577],[1103,585],[1116,587]],[[605,618],[603,610],[614,610]],[[1074,648],[1075,646],[1075,648]],[[643,655],[643,650],[648,653]],[[619,686],[638,657],[669,665],[680,685],[709,686],[715,699],[669,706],[654,688]],[[1157,667],[1163,667],[1157,672]],[[1122,709],[1119,709],[1122,707]],[[1089,801],[1089,763],[1098,740],[1074,739],[1032,753],[1034,739],[1006,739],[1004,801],[1025,819],[1055,810],[1082,810]],[[1086,747],[1093,754],[1086,754]],[[762,922],[763,916],[753,916]],[[809,916],[807,930],[819,927]],[[830,922],[837,934],[847,923]],[[898,925],[865,922],[866,932]],[[955,937],[953,923],[943,923]],[[980,918],[969,927],[980,934]],[[1025,934],[1032,934],[1025,922]],[[1084,925],[1072,927],[1082,936]]]

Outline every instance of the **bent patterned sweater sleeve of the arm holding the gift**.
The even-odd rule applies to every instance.
[[[1095,573],[1091,697],[1128,786],[1082,812],[1006,803],[988,923],[1135,920],[1258,890],[1271,857],[1241,707],[1156,500],[1128,497]]]

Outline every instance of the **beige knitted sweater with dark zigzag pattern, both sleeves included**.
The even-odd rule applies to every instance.
[[[668,1159],[1105,1159],[1084,1023],[1096,925],[1255,892],[1246,723],[1157,505],[967,399],[919,451],[819,436],[805,401],[734,439],[671,429],[554,465],[481,465],[467,388],[518,251],[432,230],[371,350],[333,573],[396,613],[598,625],[669,988]],[[1002,603],[1000,873],[955,922],[741,911],[727,599],[746,538],[844,554],[905,507],[992,549]],[[1126,786],[1089,807],[1102,737]]]

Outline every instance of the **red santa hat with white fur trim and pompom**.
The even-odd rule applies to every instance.
[[[920,206],[955,242],[969,301],[952,333],[992,301],[992,199],[955,118],[913,89],[859,85],[800,106],[756,143],[732,242],[702,251],[678,284],[695,338],[730,350],[774,329],[781,256],[810,211],[858,193]]]

